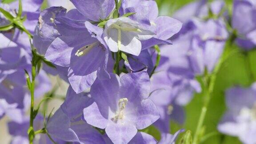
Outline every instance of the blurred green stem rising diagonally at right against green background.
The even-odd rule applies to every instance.
[[[231,49],[232,48],[232,44],[233,41],[235,40],[236,34],[232,33],[232,35],[229,37],[229,39],[227,40],[227,43],[225,45],[224,48],[224,52],[222,53],[220,60],[218,61],[218,63],[216,64],[216,67],[214,68],[212,74],[210,75],[209,79],[206,80],[205,85],[205,101],[204,101],[204,105],[203,108],[201,109],[201,113],[200,113],[200,118],[196,127],[196,132],[194,134],[193,137],[193,143],[192,144],[198,144],[199,143],[199,136],[200,136],[200,132],[202,130],[203,124],[204,124],[204,119],[205,119],[205,115],[207,113],[208,110],[208,104],[211,100],[211,96],[212,96],[212,92],[214,90],[214,86],[215,86],[215,82],[216,82],[216,75],[218,74],[218,72],[220,71],[220,68],[222,66],[222,64],[224,63],[224,61],[228,58],[228,56],[230,55]],[[205,78],[208,78],[208,75],[205,75]]]

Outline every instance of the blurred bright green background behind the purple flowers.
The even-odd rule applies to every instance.
[[[10,1],[14,0],[4,0],[4,2]],[[169,16],[172,16],[177,9],[192,1],[194,0],[156,0],[160,8],[160,14]],[[225,1],[228,8],[232,8],[232,0]],[[47,3],[45,2],[43,8],[46,7]],[[236,85],[248,87],[256,80],[256,50],[244,52],[236,44],[233,44],[232,47],[237,50],[236,53],[228,57],[217,74],[214,92],[204,120],[205,135],[209,135],[209,137],[202,144],[240,144],[238,138],[220,134],[216,127],[226,110],[224,102],[225,90]],[[174,121],[171,122],[172,133],[184,128],[185,130],[190,130],[192,135],[194,134],[203,101],[203,94],[194,96],[191,103],[185,107],[186,120],[184,125],[179,125]],[[157,140],[160,139],[160,133],[154,127],[146,128],[143,131],[152,134]],[[179,136],[179,139],[184,133]]]

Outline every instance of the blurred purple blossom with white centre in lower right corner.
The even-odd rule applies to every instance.
[[[244,144],[256,143],[256,84],[251,88],[235,87],[226,91],[227,112],[218,130],[238,136]]]

